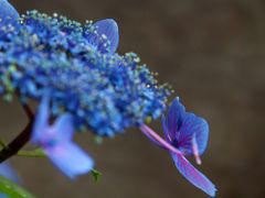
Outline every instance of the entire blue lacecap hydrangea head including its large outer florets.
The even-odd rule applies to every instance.
[[[35,10],[20,18],[7,0],[0,0],[0,94],[7,101],[17,95],[30,119],[9,145],[0,141],[0,162],[31,139],[73,179],[94,166],[93,158],[72,141],[76,130],[86,127],[97,135],[113,136],[135,125],[170,152],[190,183],[215,196],[215,186],[186,158],[194,155],[201,164],[208,122],[186,112],[177,97],[167,120],[162,116],[165,140],[146,125],[166,110],[171,89],[159,85],[136,54],[117,54],[118,42],[118,26],[112,19],[82,26]],[[29,99],[40,101],[35,116]]]

